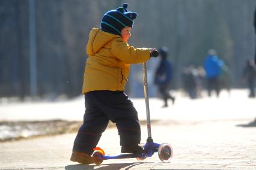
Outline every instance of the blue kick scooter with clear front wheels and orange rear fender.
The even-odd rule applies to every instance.
[[[159,55],[158,51],[153,51],[151,54],[154,57]],[[141,154],[120,154],[117,156],[106,156],[105,152],[100,147],[94,148],[93,159],[94,163],[100,165],[103,160],[108,159],[125,159],[125,158],[136,158],[139,162],[143,162],[147,157],[153,156],[154,153],[158,153],[159,159],[162,162],[169,160],[173,155],[173,150],[170,144],[163,143],[157,144],[153,142],[151,136],[151,125],[150,125],[150,109],[148,101],[148,83],[147,83],[147,66],[146,63],[142,63],[143,69],[143,79],[144,79],[144,95],[145,95],[145,104],[146,104],[146,113],[147,113],[147,130],[148,138],[146,144],[142,145],[144,153]]]

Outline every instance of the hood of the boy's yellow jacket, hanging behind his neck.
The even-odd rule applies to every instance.
[[[89,34],[89,40],[87,42],[87,54],[96,54],[106,43],[118,37],[121,38],[119,35],[104,32],[99,28],[93,28]]]

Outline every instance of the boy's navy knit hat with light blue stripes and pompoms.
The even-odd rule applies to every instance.
[[[123,7],[108,11],[104,14],[102,22],[100,23],[102,31],[121,36],[121,30],[124,27],[129,26],[132,28],[133,20],[136,19],[137,14],[127,11],[127,7],[128,4],[124,3]]]

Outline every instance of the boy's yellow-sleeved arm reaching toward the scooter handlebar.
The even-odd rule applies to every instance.
[[[135,48],[121,38],[115,38],[111,43],[111,53],[124,63],[142,63],[150,59],[149,48]]]

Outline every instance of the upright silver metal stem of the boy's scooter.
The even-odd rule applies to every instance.
[[[150,125],[150,109],[148,101],[148,81],[147,81],[147,66],[146,63],[142,63],[143,69],[143,80],[144,80],[144,96],[146,103],[146,112],[147,112],[147,129],[148,129],[148,139],[151,138],[151,125]]]

